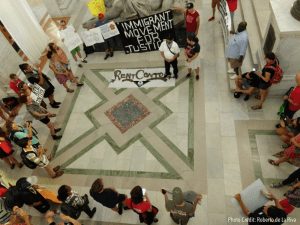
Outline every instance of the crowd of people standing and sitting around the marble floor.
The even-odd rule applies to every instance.
[[[231,37],[229,38],[226,51],[226,58],[234,70],[235,75],[231,78],[235,80],[236,89],[234,97],[239,98],[245,95],[244,100],[256,93],[255,98],[258,103],[251,108],[253,110],[262,109],[268,96],[268,91],[273,84],[280,82],[283,71],[280,67],[278,58],[273,52],[265,54],[266,64],[261,69],[242,73],[241,67],[248,48],[248,33],[246,31],[247,23],[238,24],[237,30],[234,30],[234,12],[237,9],[237,0],[226,0],[231,13]],[[219,0],[212,0],[213,15],[209,21],[215,19],[215,9],[220,7]],[[186,78],[192,77],[195,73],[195,79],[200,79],[200,44],[197,35],[199,35],[200,14],[195,10],[193,3],[187,3],[186,8],[174,8],[173,10],[183,13],[186,25],[186,47],[184,57],[186,61]],[[107,23],[104,14],[98,15],[96,26]],[[60,22],[60,34],[62,41],[68,38],[64,34],[65,29],[69,29],[66,21]],[[71,27],[71,29],[73,29]],[[113,57],[114,39],[105,41],[106,54],[105,60]],[[81,63],[87,63],[80,53],[80,47],[70,51],[73,59],[79,67]],[[173,34],[165,37],[165,40],[159,47],[159,52],[164,60],[165,77],[171,77],[171,66],[173,67],[173,77],[179,76],[178,57],[180,48],[174,41]],[[47,58],[49,68],[53,72],[58,83],[61,84],[67,93],[73,93],[68,81],[74,83],[77,87],[83,86],[76,75],[74,75],[67,54],[55,43],[49,43]],[[63,169],[51,164],[52,155],[47,153],[47,148],[43,147],[39,141],[37,132],[32,127],[32,121],[26,121],[22,126],[13,122],[18,114],[21,105],[26,106],[27,111],[32,117],[44,123],[50,131],[53,140],[59,140],[62,135],[58,135],[61,128],[55,127],[51,122],[51,117],[56,114],[49,112],[44,98],[47,98],[51,108],[59,108],[60,102],[56,101],[55,88],[50,78],[44,74],[39,66],[31,66],[27,63],[19,65],[24,73],[28,83],[20,80],[16,74],[10,74],[10,88],[16,93],[17,97],[5,99],[0,102],[0,116],[5,121],[5,127],[0,130],[0,158],[14,169],[17,166],[21,169],[24,165],[29,169],[44,168],[51,178],[58,178],[64,174]],[[39,99],[34,92],[35,86],[41,87],[44,92],[42,99]],[[283,96],[284,103],[280,108],[280,121],[276,125],[276,133],[282,140],[284,149],[283,154],[277,160],[269,159],[268,162],[273,166],[279,166],[284,162],[293,162],[300,158],[300,117],[294,118],[295,113],[300,109],[300,74],[296,75],[296,85],[291,87]],[[9,106],[9,107],[8,107]],[[16,146],[20,149],[22,161],[14,158],[13,153]],[[291,189],[281,200],[277,199],[271,192],[264,193],[269,199],[274,201],[274,205],[265,205],[257,210],[250,212],[240,194],[235,195],[235,199],[240,205],[245,216],[249,218],[271,219],[271,224],[282,224],[287,215],[295,207],[300,206],[300,169],[290,174],[285,180],[279,183],[272,183],[271,188],[281,188],[290,185]],[[170,212],[171,219],[180,225],[186,225],[190,218],[194,217],[197,205],[202,196],[193,191],[183,192],[181,188],[175,187],[172,192],[161,189],[162,198],[165,200],[166,211]],[[141,223],[148,225],[158,222],[157,214],[159,209],[152,204],[145,188],[135,186],[129,195],[119,193],[112,187],[104,187],[101,178],[96,179],[89,191],[89,196],[103,207],[109,208],[119,215],[124,210],[131,210],[138,215]],[[89,218],[93,218],[97,209],[90,207],[88,194],[81,195],[67,184],[61,185],[57,193],[36,184],[33,177],[22,177],[16,184],[4,185],[0,183],[0,224],[7,225],[31,225],[30,215],[22,208],[24,205],[35,208],[41,214],[44,214],[45,221],[49,225],[60,223],[80,225],[78,218],[83,211]],[[171,196],[171,198],[170,198]],[[59,222],[58,222],[59,221]],[[277,223],[275,222],[277,221]],[[251,223],[249,223],[251,224]]]

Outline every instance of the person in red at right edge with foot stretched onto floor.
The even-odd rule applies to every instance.
[[[273,166],[279,166],[283,162],[300,158],[300,134],[290,139],[291,146],[284,150],[283,156],[277,160],[269,159]]]

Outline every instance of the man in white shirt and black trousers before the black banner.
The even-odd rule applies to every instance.
[[[163,57],[165,62],[165,77],[171,76],[170,67],[173,67],[174,78],[178,78],[178,62],[177,58],[179,57],[180,49],[178,44],[173,41],[171,34],[161,43],[159,47],[160,55]]]

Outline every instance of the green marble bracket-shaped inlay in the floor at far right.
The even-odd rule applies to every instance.
[[[269,179],[264,178],[262,175],[262,169],[260,164],[259,152],[256,142],[256,135],[276,135],[276,132],[273,130],[248,130],[251,155],[252,155],[252,165],[255,173],[255,177],[260,178],[264,184],[269,185],[273,182],[279,182],[281,179]]]

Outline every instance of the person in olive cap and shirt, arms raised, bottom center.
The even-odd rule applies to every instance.
[[[172,220],[180,225],[186,225],[189,219],[194,216],[197,204],[202,198],[201,195],[196,195],[194,202],[186,202],[179,187],[173,189],[172,200],[168,198],[166,190],[162,189],[161,192],[165,197],[165,206],[167,211],[170,212]]]

